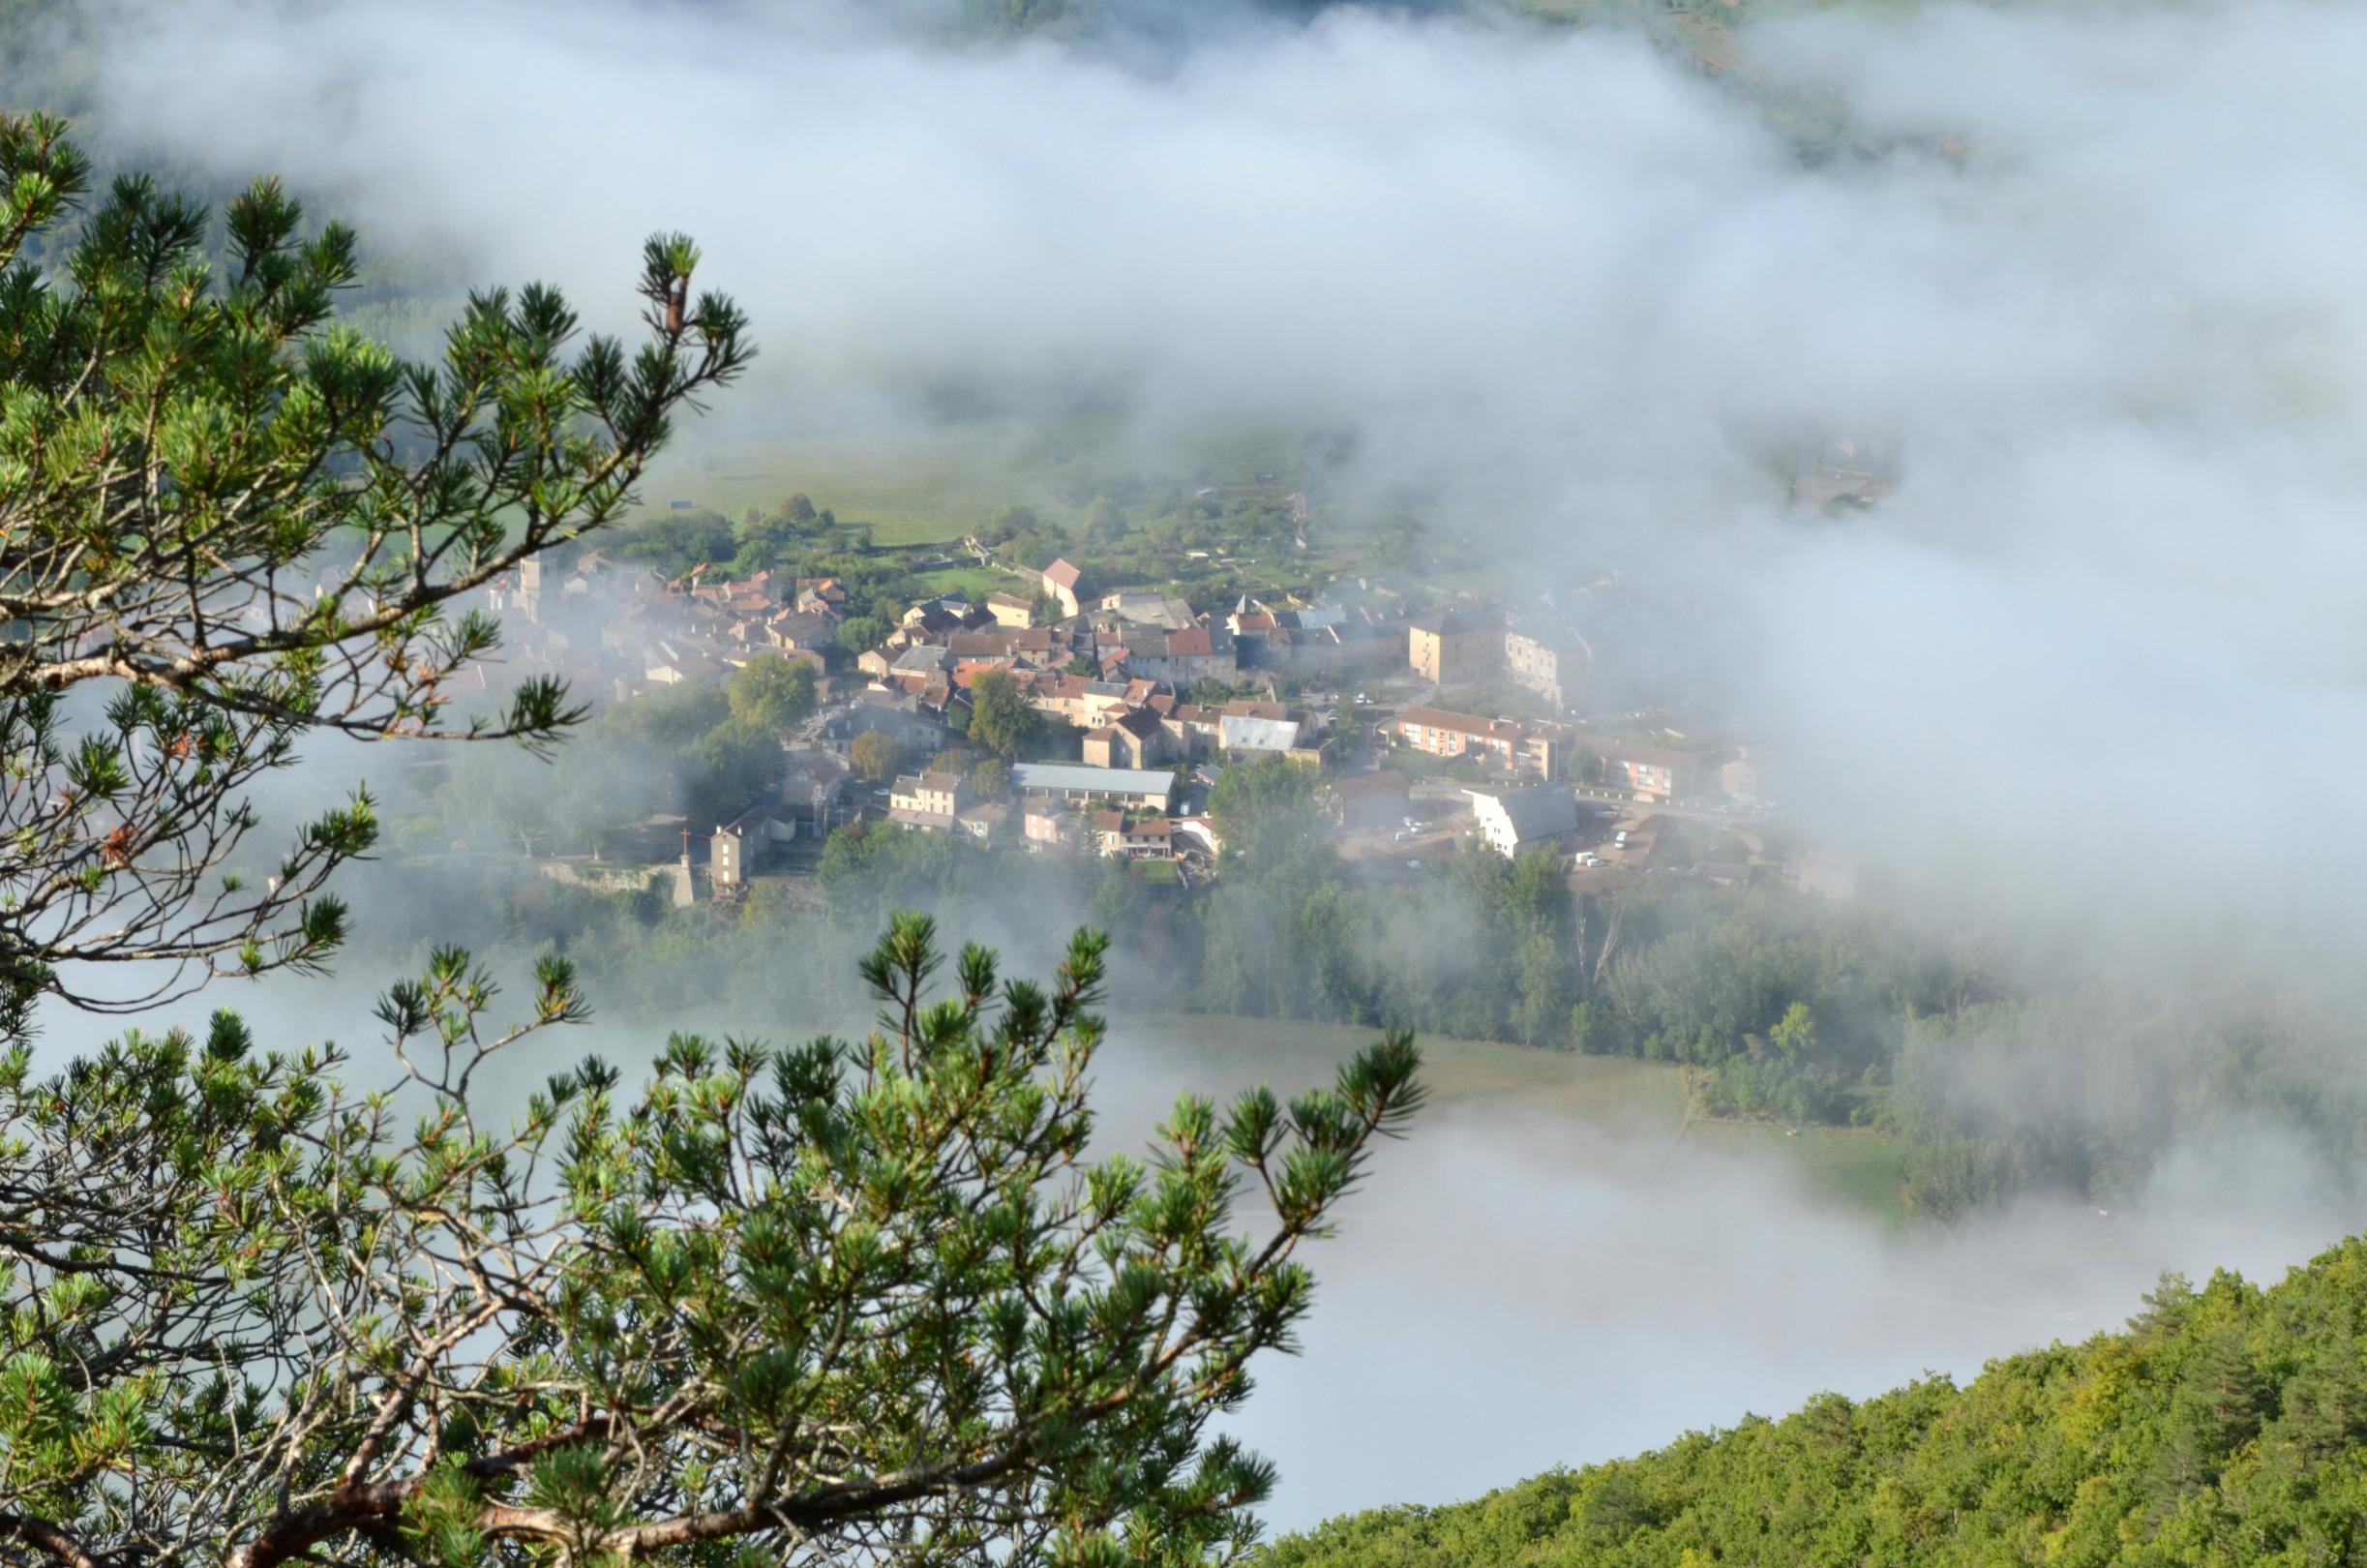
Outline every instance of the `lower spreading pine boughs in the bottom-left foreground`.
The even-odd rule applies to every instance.
[[[563,962],[497,1033],[436,955],[369,1094],[232,1014],[52,1080],[17,1047],[0,1561],[1238,1556],[1271,1471],[1207,1426],[1292,1345],[1295,1251],[1418,1054],[1089,1158],[1103,950],[1034,985],[966,947],[935,995],[902,914],[869,1040],[677,1035],[639,1097],[587,1061],[499,1123],[473,1085],[580,1016]]]

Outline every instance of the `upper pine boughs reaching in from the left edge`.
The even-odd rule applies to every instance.
[[[317,966],[372,801],[241,857],[256,782],[312,732],[580,718],[554,680],[454,715],[499,637],[452,602],[613,519],[753,355],[679,234],[644,251],[632,353],[533,284],[409,365],[334,322],[355,239],[303,237],[275,182],[227,204],[213,265],[208,213],[137,175],[62,237],[88,180],[62,121],[0,116],[0,1035],[40,995],[128,1011]]]

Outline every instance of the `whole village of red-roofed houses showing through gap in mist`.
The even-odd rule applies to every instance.
[[[596,701],[722,685],[762,658],[814,677],[812,713],[739,810],[644,824],[663,831],[641,836],[656,846],[641,857],[552,855],[544,872],[663,883],[675,905],[734,900],[810,872],[852,827],[1103,855],[1198,886],[1221,874],[1210,791],[1273,758],[1316,772],[1337,853],[1368,879],[1543,846],[1581,886],[1671,872],[1853,891],[1771,834],[1747,746],[1692,732],[1676,708],[1617,708],[1633,692],[1600,677],[1593,590],[1553,611],[1335,576],[1195,611],[1065,557],[1025,568],[978,538],[963,552],[963,576],[1001,587],[914,597],[895,625],[864,621],[840,576],[667,578],[599,550],[495,583],[514,668]],[[869,628],[862,647],[850,625]],[[1015,753],[973,734],[987,694],[1027,713]]]

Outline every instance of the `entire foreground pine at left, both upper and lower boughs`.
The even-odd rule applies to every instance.
[[[357,796],[246,865],[251,786],[315,732],[554,739],[457,595],[632,500],[675,410],[753,353],[644,256],[646,341],[483,294],[438,365],[329,322],[353,237],[260,182],[206,213],[0,116],[0,1563],[1188,1563],[1271,1483],[1207,1426],[1288,1350],[1370,1146],[1420,1101],[1392,1035],[1283,1106],[1184,1099],[1089,1158],[1105,940],[1051,988],[897,917],[857,1045],[677,1035],[495,1111],[525,1016],[457,950],[388,990],[391,1068],[125,1033],[33,1075],[31,1009],[320,966]],[[765,696],[774,722],[805,701]],[[90,701],[85,701],[90,699]],[[144,962],[135,995],[85,988]],[[1266,1210],[1236,1232],[1236,1203]]]

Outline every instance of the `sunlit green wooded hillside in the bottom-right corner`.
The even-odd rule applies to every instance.
[[[1813,1400],[1262,1568],[2353,1563],[2367,1551],[2367,1241],[2260,1291],[2166,1281],[2123,1334],[1853,1405]],[[1550,1355],[1550,1348],[1539,1348]]]

